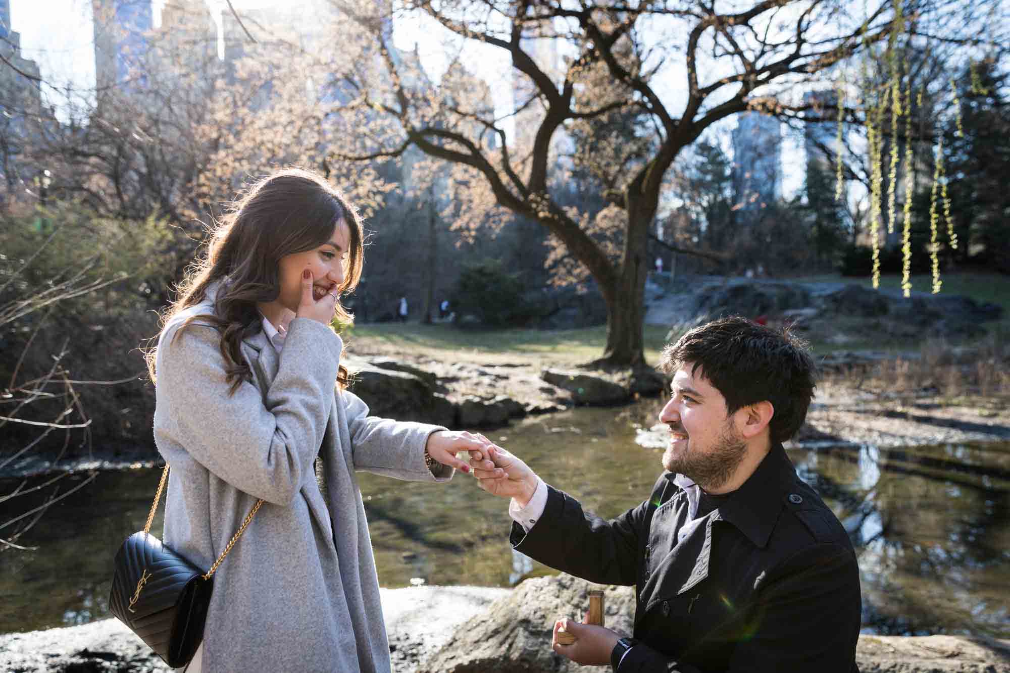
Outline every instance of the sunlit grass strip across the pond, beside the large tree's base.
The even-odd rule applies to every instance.
[[[645,359],[660,359],[667,328],[645,325]],[[355,326],[344,341],[351,353],[368,355],[428,356],[453,360],[504,364],[580,364],[603,355],[606,326],[582,329],[458,329],[449,324],[418,322],[373,323]]]

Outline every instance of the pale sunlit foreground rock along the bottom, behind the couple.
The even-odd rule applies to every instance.
[[[570,575],[529,579],[515,589],[384,589],[383,610],[398,673],[533,673],[603,671],[579,667],[550,649],[553,620],[580,616],[597,585]],[[605,587],[606,624],[630,633],[631,587]],[[863,635],[864,673],[1010,673],[1010,641],[960,636]],[[0,670],[168,671],[117,619],[0,636]]]

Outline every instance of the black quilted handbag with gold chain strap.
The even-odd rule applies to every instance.
[[[263,500],[256,503],[238,533],[204,573],[150,535],[150,524],[168,476],[169,466],[166,465],[143,531],[127,538],[116,553],[109,609],[166,664],[179,668],[189,664],[203,641],[214,572],[252,520]]]

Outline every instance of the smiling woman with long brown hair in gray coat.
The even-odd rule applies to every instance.
[[[447,481],[483,438],[369,415],[346,389],[342,293],[362,223],[321,177],[254,184],[180,287],[158,346],[155,440],[171,466],[165,542],[214,576],[189,670],[389,671],[356,470]]]

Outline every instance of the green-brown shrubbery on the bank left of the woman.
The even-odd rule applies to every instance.
[[[95,446],[149,446],[154,390],[139,348],[157,333],[177,248],[190,245],[181,238],[155,218],[96,217],[67,203],[0,218],[0,392],[44,377],[58,359],[75,381],[125,380],[73,385],[79,411],[64,422],[83,415],[91,424],[72,434],[72,452],[86,432]],[[17,393],[31,399],[18,416],[54,421],[70,403],[66,390],[54,380],[40,395]],[[35,429],[7,424],[0,454],[25,446]],[[39,448],[64,440],[53,432]]]

